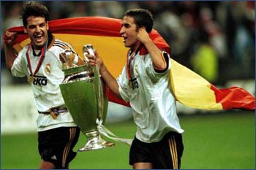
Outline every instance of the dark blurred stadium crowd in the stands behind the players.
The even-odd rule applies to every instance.
[[[7,28],[22,26],[18,12],[23,3],[26,1],[1,1],[1,41]],[[41,3],[50,10],[50,20],[82,16],[121,19],[127,9],[149,9],[154,15],[154,28],[170,45],[174,60],[216,85],[227,80],[255,78],[255,1]],[[1,71],[4,69],[5,61],[1,57]],[[12,80],[17,81],[26,82]]]

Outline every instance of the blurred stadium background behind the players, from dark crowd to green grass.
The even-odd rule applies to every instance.
[[[26,78],[12,77],[6,69],[2,44],[4,31],[22,26],[19,11],[24,3],[1,1],[1,169],[35,169],[39,163],[33,94]],[[174,60],[219,88],[238,86],[255,95],[255,1],[40,3],[48,7],[50,20],[81,16],[121,19],[127,9],[149,9],[154,28],[170,45]],[[178,114],[185,129],[181,169],[255,169],[254,112],[208,112],[178,104]],[[113,103],[106,126],[127,138],[133,138],[136,130],[130,109]],[[85,137],[80,140],[78,147]],[[20,151],[15,152],[14,146]],[[29,152],[26,158],[24,152]],[[128,155],[128,146],[116,144],[107,151],[78,154],[70,168],[131,169]],[[99,158],[97,163],[90,161],[95,158]]]

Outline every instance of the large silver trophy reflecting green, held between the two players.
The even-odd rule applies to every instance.
[[[83,46],[83,54],[94,55],[92,45]],[[78,151],[97,150],[114,146],[99,134],[98,127],[105,122],[108,98],[105,84],[97,66],[76,66],[63,70],[65,79],[61,83],[61,94],[65,104],[82,133],[87,137],[84,147]]]

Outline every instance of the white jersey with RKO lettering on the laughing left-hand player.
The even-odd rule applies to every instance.
[[[45,50],[45,57],[39,67],[34,80],[31,82],[31,87],[34,93],[35,106],[40,112],[48,112],[51,107],[64,106],[64,99],[61,96],[59,85],[64,80],[64,72],[62,72],[61,61],[59,54],[64,51],[64,48],[70,46],[60,39],[52,38],[48,43],[48,48]],[[70,46],[71,47],[71,46]],[[20,51],[18,57],[12,65],[12,75],[15,77],[29,77],[29,63],[26,58],[26,52],[29,53],[31,62],[31,70],[34,73],[39,63],[40,56],[34,53],[34,50],[29,45],[26,45]],[[74,52],[75,53],[75,52]],[[37,131],[46,131],[58,127],[76,126],[69,112],[59,114],[54,120],[50,115],[39,114],[37,117]]]

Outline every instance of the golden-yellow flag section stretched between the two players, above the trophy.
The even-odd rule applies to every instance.
[[[76,34],[53,34],[56,38],[73,45],[75,51],[83,58],[83,45],[93,45],[102,57],[113,77],[118,77],[125,64],[125,56],[128,49],[124,47],[121,37],[91,36]],[[30,42],[29,39],[20,43],[24,47]]]

